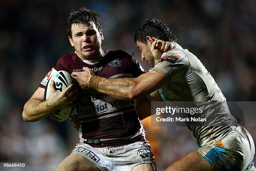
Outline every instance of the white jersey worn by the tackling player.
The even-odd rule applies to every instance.
[[[173,48],[163,53],[159,62],[151,71],[157,71],[165,74],[169,78],[169,82],[159,89],[160,95],[164,101],[194,101],[194,102],[225,102],[226,98],[220,91],[215,80],[207,71],[200,60],[190,53],[187,49],[183,49],[179,44],[173,42]],[[236,119],[230,114],[228,107],[223,108],[221,114],[225,116],[225,123],[228,125],[236,124]],[[212,117],[206,114],[204,118]],[[209,119],[211,121],[211,119]],[[213,144],[230,131],[228,126],[209,127],[210,123],[205,125],[190,125],[189,129],[193,132],[197,139],[199,147]]]

